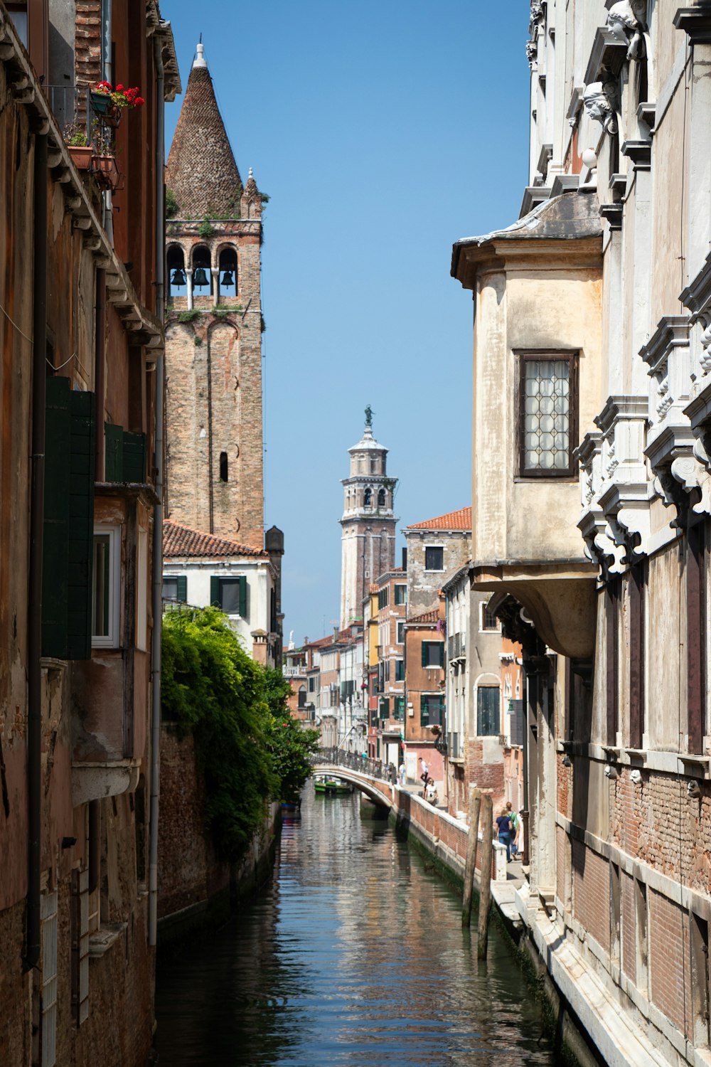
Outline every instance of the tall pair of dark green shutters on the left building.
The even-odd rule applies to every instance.
[[[94,410],[93,393],[47,379],[42,652],[55,659],[92,654]]]

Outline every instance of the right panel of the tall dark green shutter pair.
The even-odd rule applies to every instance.
[[[67,658],[92,657],[92,564],[94,557],[95,397],[69,394],[69,584]]]

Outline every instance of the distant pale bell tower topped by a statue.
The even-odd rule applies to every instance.
[[[342,479],[341,630],[362,618],[368,586],[394,567],[398,479],[388,477],[388,450],[373,437],[372,416],[369,404],[362,437],[349,448],[351,473]]]

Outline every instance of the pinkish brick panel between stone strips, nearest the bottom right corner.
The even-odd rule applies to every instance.
[[[692,991],[689,925],[681,908],[653,889],[648,891],[647,905],[651,999],[679,1030],[690,1035]]]

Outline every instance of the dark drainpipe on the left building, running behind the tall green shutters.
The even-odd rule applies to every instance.
[[[34,139],[34,256],[32,313],[32,437],[30,573],[28,582],[28,892],[23,970],[39,959],[42,864],[42,554],[45,522],[45,397],[47,360],[47,136]]]

